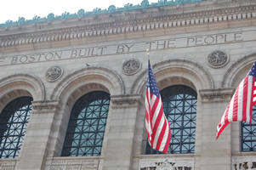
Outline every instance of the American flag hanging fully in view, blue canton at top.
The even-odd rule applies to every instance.
[[[150,60],[148,62],[145,92],[146,133],[151,148],[166,153],[171,139],[170,125],[162,109],[162,99],[151,69],[151,62]]]

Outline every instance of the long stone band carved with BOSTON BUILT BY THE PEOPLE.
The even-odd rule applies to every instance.
[[[107,46],[97,46],[97,47],[85,47],[76,49],[66,49],[63,51],[54,51],[47,53],[38,54],[22,54],[17,56],[2,56],[0,57],[1,65],[20,65],[20,64],[30,64],[36,62],[44,61],[54,61],[60,59],[79,59],[88,57],[97,57],[104,55],[113,54],[128,54],[135,52],[142,52],[145,49],[150,50],[161,50],[170,48],[188,48],[195,46],[205,46],[214,45],[221,43],[233,43],[242,41],[252,41],[245,40],[243,37],[247,34],[254,35],[254,31],[247,32],[232,32],[224,34],[214,34],[206,36],[196,36],[196,37],[176,37],[164,40],[156,40],[150,42],[134,42],[134,43],[123,43],[117,45],[107,45]],[[252,37],[253,38],[253,37]]]

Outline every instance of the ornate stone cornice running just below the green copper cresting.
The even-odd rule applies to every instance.
[[[204,3],[204,2],[202,2]],[[225,3],[221,5],[198,6],[194,8],[174,8],[166,6],[162,10],[138,14],[113,16],[102,15],[98,18],[82,18],[81,20],[62,20],[44,25],[0,28],[0,48],[20,44],[66,41],[81,38],[107,37],[113,34],[128,34],[139,31],[158,29],[174,29],[182,26],[198,26],[217,24],[236,20],[256,19],[256,2]],[[40,27],[40,29],[39,29]],[[40,30],[40,31],[38,31]]]

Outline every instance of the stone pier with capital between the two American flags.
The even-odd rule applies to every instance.
[[[196,167],[208,170],[230,170],[231,167],[231,128],[230,125],[216,140],[217,125],[229,105],[234,93],[234,88],[204,89],[199,90],[202,105],[201,124],[201,152],[200,161]],[[199,123],[199,122],[198,122]],[[197,126],[197,120],[196,120]],[[200,164],[200,165],[198,165]]]

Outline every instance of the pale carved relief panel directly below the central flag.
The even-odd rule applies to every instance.
[[[141,159],[139,170],[193,170],[194,160],[192,158],[180,159]]]

